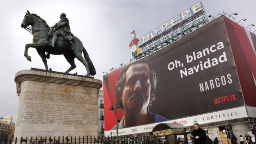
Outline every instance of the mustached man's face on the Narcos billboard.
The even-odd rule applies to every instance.
[[[126,80],[122,92],[124,109],[130,112],[146,110],[150,100],[150,69],[148,64],[134,64],[126,71]]]

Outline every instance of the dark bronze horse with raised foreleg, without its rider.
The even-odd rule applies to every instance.
[[[66,60],[71,65],[65,73],[68,73],[74,68],[76,68],[74,58],[77,58],[80,62],[84,64],[87,71],[86,76],[94,76],[96,74],[96,70],[92,64],[92,61],[86,49],[84,48],[82,42],[76,36],[73,36],[73,44],[71,44],[68,41],[65,41],[62,36],[59,36],[58,40],[56,41],[55,47],[53,48],[52,46],[46,44],[47,41],[52,41],[52,37],[49,37],[47,35],[47,32],[50,29],[50,27],[48,26],[46,21],[40,18],[40,16],[37,16],[36,14],[30,14],[29,11],[27,12],[28,13],[26,13],[21,23],[22,28],[27,29],[27,27],[30,25],[32,27],[31,30],[33,34],[33,43],[26,44],[24,52],[24,56],[27,58],[27,60],[31,62],[31,57],[28,56],[28,48],[32,47],[36,48],[36,51],[38,52],[39,56],[42,58],[42,61],[44,62],[46,70],[48,70],[48,65],[45,52],[55,55],[64,55]],[[82,52],[84,53],[84,58],[82,56]]]

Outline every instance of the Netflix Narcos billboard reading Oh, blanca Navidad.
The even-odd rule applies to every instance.
[[[223,17],[103,80],[106,131],[244,106]]]

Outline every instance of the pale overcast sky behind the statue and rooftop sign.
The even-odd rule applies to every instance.
[[[44,64],[34,48],[28,50],[32,58],[24,57],[24,46],[32,43],[32,34],[20,27],[26,10],[35,13],[49,24],[59,21],[62,12],[70,21],[72,33],[84,44],[96,68],[94,78],[102,80],[102,72],[128,63],[132,58],[129,47],[132,30],[137,38],[151,32],[170,18],[196,4],[198,0],[4,0],[0,4],[0,116],[18,111],[14,76],[20,70],[44,69]],[[246,18],[244,26],[256,24],[256,0],[202,0],[206,14],[216,16],[237,12],[236,20]],[[256,26],[255,26],[256,27]],[[252,30],[256,28],[252,27]],[[86,69],[77,59],[70,73],[85,75]],[[48,67],[65,72],[70,64],[64,56],[51,55]]]

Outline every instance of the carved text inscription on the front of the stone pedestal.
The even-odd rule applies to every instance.
[[[90,94],[26,90],[22,97],[17,124],[97,125],[97,97]]]

